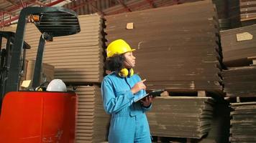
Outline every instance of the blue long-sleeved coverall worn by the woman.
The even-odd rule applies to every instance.
[[[111,114],[109,143],[150,143],[150,127],[145,112],[151,109],[134,102],[146,94],[140,90],[132,94],[131,89],[141,79],[137,74],[132,77],[119,77],[116,72],[104,77],[101,95],[106,113]]]

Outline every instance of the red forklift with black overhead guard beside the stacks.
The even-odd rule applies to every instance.
[[[24,69],[24,49],[29,49],[24,43],[27,18],[37,26],[42,35],[37,49],[32,89],[21,91],[19,85]],[[8,59],[6,61],[8,64],[4,64],[4,74],[1,74],[0,142],[75,142],[78,102],[76,93],[36,91],[36,89],[42,84],[40,73],[45,41],[52,41],[55,36],[68,36],[80,31],[78,16],[69,9],[63,7],[22,9],[15,36],[7,38],[7,44],[8,39],[13,40],[12,48],[7,48],[12,50],[9,51],[9,55],[1,56],[3,59]]]

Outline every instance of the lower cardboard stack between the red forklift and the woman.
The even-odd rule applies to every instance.
[[[96,86],[80,86],[78,94],[78,117],[76,142],[104,142],[108,131],[109,115],[104,112],[101,91]]]

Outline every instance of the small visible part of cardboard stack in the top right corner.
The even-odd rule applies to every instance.
[[[240,16],[241,20],[256,19],[256,1],[240,0]]]

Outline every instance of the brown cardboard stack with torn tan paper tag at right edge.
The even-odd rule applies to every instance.
[[[245,66],[256,56],[256,24],[221,31],[221,46],[225,66]]]

